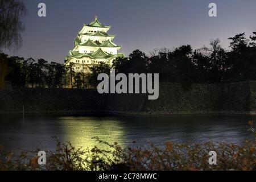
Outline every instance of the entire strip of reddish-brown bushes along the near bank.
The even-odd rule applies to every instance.
[[[256,170],[256,140],[242,146],[230,143],[178,144],[123,149],[97,137],[109,150],[75,148],[57,140],[56,151],[47,152],[47,163],[38,165],[38,151],[1,154],[1,170]],[[2,151],[2,147],[0,147]],[[209,165],[209,151],[217,152],[217,165]],[[3,152],[2,152],[3,153]]]

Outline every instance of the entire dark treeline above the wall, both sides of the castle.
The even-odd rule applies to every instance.
[[[256,80],[256,32],[249,39],[245,33],[230,40],[227,51],[220,39],[211,40],[209,47],[193,51],[189,45],[174,50],[155,49],[150,56],[138,49],[129,57],[119,57],[109,64],[99,63],[90,72],[76,73],[74,64],[63,64],[23,57],[7,57],[9,74],[5,80],[16,87],[96,88],[99,73],[159,73],[160,82],[216,83]]]

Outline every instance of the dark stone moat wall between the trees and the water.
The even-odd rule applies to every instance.
[[[256,114],[256,81],[231,84],[161,83],[158,100],[147,94],[98,94],[86,89],[0,92],[0,114]]]

